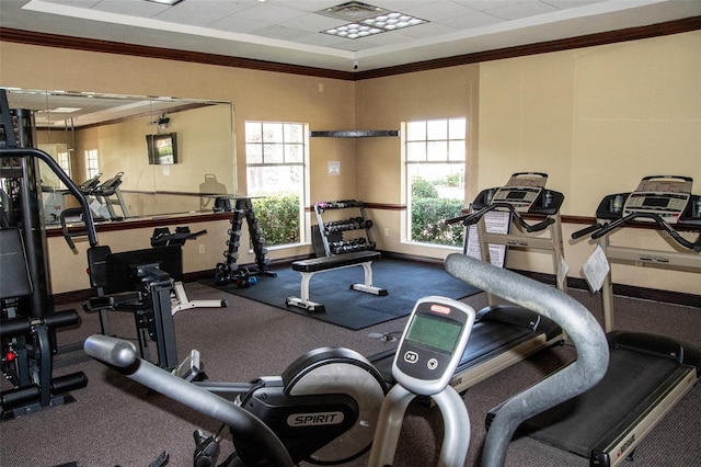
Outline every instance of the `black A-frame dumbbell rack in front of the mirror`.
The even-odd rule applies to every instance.
[[[255,210],[253,209],[253,203],[251,197],[235,197],[235,204],[232,209],[233,216],[231,218],[231,228],[229,229],[229,240],[227,240],[227,250],[223,252],[226,259],[225,263],[217,264],[216,277],[217,283],[227,283],[235,278],[239,265],[237,261],[239,259],[239,246],[241,244],[241,229],[243,227],[243,220],[245,219],[249,225],[249,234],[251,235],[251,242],[253,243],[253,252],[255,253],[256,267],[251,270],[251,275],[268,275],[275,277],[277,274],[269,271],[268,265],[271,260],[267,258],[267,248],[265,248],[265,240],[261,236],[262,230],[258,226],[258,219],[255,217]]]

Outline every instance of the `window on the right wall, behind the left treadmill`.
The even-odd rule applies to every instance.
[[[466,118],[407,122],[404,135],[409,241],[462,246],[462,225],[443,219],[464,206]]]

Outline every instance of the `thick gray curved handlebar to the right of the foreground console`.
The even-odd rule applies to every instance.
[[[512,271],[452,253],[446,271],[490,294],[533,310],[558,323],[573,341],[577,360],[502,406],[490,426],[483,466],[503,466],[506,451],[521,422],[595,386],[606,374],[609,348],[591,314],[565,293]]]

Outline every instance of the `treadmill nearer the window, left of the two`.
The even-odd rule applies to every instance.
[[[482,191],[470,205],[470,214],[447,219],[446,224],[462,223],[466,226],[463,253],[468,252],[470,227],[475,226],[484,262],[491,262],[490,244],[550,253],[558,288],[566,292],[560,221],[564,196],[547,190],[547,180],[545,173],[515,173],[505,186]],[[487,221],[492,213],[508,217],[503,223],[506,231],[490,228]],[[538,223],[529,225],[524,216]],[[514,232],[508,231],[510,224],[517,226]],[[549,236],[542,235],[543,231],[549,231]],[[468,346],[450,381],[458,392],[564,341],[561,328],[535,311],[514,305],[498,305],[492,294],[487,294],[487,304],[476,314]],[[388,350],[369,357],[389,384],[394,383],[391,375],[394,353],[395,350]]]

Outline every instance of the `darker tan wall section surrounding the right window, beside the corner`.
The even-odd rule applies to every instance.
[[[361,129],[400,129],[402,122],[467,117],[467,204],[478,193],[474,187],[478,180],[479,82],[480,69],[476,65],[359,81],[356,86],[357,126]],[[400,138],[357,140],[357,191],[360,200],[390,205],[406,203],[400,146]],[[377,226],[374,240],[381,249],[433,258],[445,258],[455,251],[402,242],[400,228],[405,221],[404,214],[384,209],[370,213]]]

